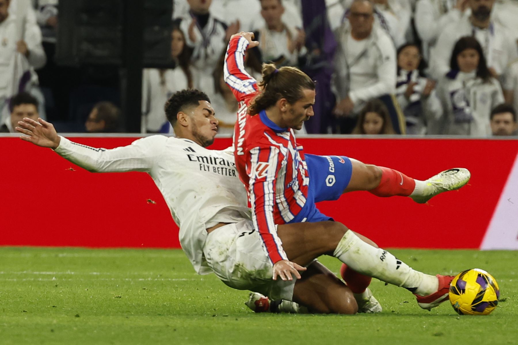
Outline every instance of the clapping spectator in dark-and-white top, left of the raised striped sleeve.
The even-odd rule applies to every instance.
[[[199,87],[212,95],[212,73],[230,36],[238,31],[239,23],[227,26],[215,18],[210,11],[212,0],[188,0],[188,3],[189,12],[177,18],[176,22],[185,33],[185,43],[193,49],[191,61],[199,72]]]

